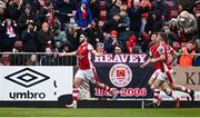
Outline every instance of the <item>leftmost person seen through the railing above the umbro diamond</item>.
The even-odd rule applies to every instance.
[[[29,56],[26,66],[39,66],[38,57],[36,53]]]

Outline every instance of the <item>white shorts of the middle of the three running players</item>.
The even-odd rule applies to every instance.
[[[161,81],[166,81],[166,75],[160,70],[160,69],[157,69],[153,73],[152,73],[152,76],[151,76],[151,79],[159,79],[159,80],[161,80]]]

